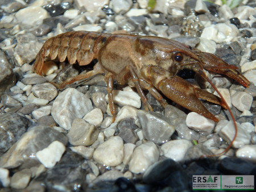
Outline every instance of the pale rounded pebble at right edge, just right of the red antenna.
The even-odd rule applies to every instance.
[[[240,111],[250,110],[253,97],[246,92],[237,91],[231,96],[232,105]]]

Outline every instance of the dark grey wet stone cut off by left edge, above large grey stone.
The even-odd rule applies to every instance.
[[[29,124],[28,119],[14,112],[0,115],[0,154],[6,152],[27,131]]]

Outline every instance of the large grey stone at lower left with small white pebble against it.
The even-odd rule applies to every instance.
[[[63,133],[47,126],[37,126],[24,133],[11,148],[1,156],[1,168],[31,168],[38,165],[35,153],[46,148],[53,141],[60,141],[64,145],[68,139]]]

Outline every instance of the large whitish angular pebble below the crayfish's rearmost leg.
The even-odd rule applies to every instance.
[[[71,128],[73,120],[84,117],[93,110],[92,102],[74,88],[65,89],[52,105],[52,117],[65,130]]]

